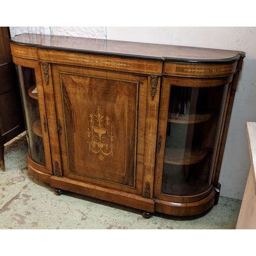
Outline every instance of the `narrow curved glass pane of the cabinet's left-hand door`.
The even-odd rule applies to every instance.
[[[30,157],[41,165],[46,165],[44,143],[36,91],[34,69],[17,66]]]

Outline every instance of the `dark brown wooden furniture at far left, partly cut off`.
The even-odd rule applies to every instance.
[[[9,29],[0,27],[0,170],[5,170],[4,144],[24,131],[22,101],[9,45]]]

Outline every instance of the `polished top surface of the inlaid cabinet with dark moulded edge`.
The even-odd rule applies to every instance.
[[[11,38],[10,42],[41,49],[161,61],[225,62],[236,61],[241,56],[245,56],[245,53],[241,51],[42,34],[21,34]]]

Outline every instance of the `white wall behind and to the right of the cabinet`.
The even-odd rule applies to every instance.
[[[10,27],[10,31],[12,36],[24,31],[246,52],[219,180],[222,196],[242,200],[250,168],[245,124],[256,121],[255,27]]]

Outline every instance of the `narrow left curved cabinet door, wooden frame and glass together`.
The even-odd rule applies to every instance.
[[[44,90],[40,64],[36,60],[14,58],[17,65],[28,140],[28,162],[41,172],[52,174]]]

